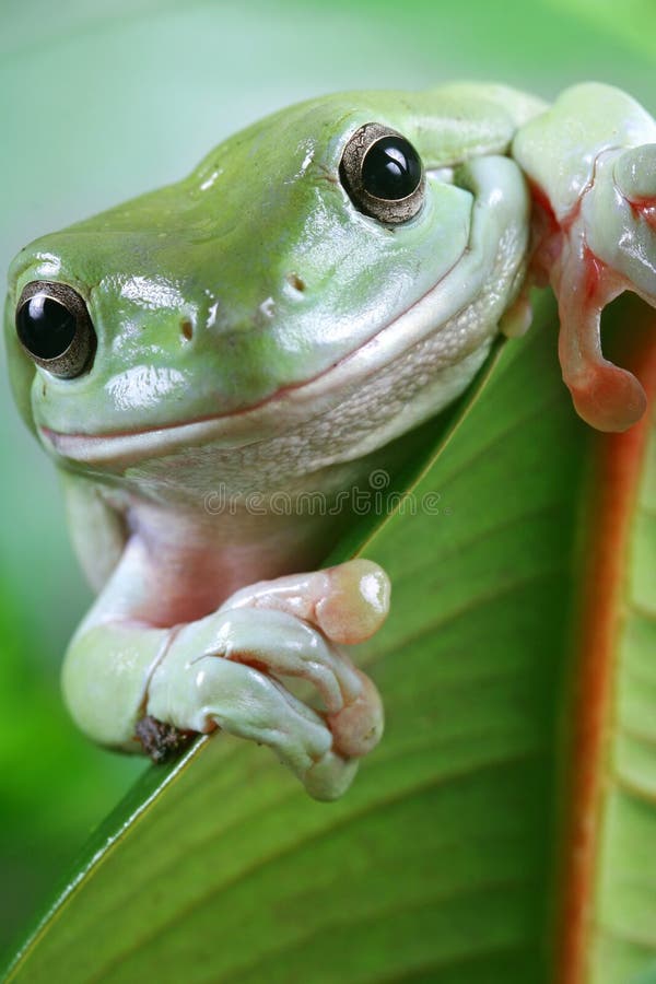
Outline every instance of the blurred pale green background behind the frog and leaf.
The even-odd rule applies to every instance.
[[[652,112],[656,4],[629,0],[2,0],[0,267],[40,233],[174,180],[286,103],[491,79],[598,79]],[[3,360],[3,356],[2,356]],[[50,462],[0,386],[0,949],[143,768],[69,724],[59,664],[90,600]]]

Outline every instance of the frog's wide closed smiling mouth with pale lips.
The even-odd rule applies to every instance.
[[[366,399],[361,399],[361,413],[366,414],[368,406],[390,401],[389,372],[385,374],[386,379],[380,378],[385,367],[410,359],[412,350],[427,338],[449,335],[446,345],[449,356],[441,360],[441,370],[456,366],[485,341],[491,341],[495,318],[483,319],[472,330],[472,337],[466,340],[460,332],[457,344],[454,344],[452,337],[452,324],[484,290],[491,276],[494,278],[497,274],[499,279],[508,277],[508,271],[503,270],[502,266],[495,257],[492,269],[485,276],[480,256],[475,259],[471,251],[462,250],[448,271],[423,296],[359,348],[312,379],[284,386],[248,407],[140,431],[89,435],[62,433],[38,425],[38,433],[46,449],[57,457],[87,467],[122,471],[131,465],[179,454],[195,446],[212,445],[216,449],[235,450],[300,431],[354,395],[361,397],[365,386],[367,393]],[[465,277],[462,267],[469,268]],[[467,284],[468,289],[464,290],[462,284]],[[487,347],[483,348],[487,351]],[[354,446],[351,450],[353,456],[358,456],[371,448]]]

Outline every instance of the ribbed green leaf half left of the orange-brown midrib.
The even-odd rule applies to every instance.
[[[361,651],[387,730],[352,789],[317,804],[267,749],[201,739],[109,818],[9,980],[551,980],[577,518],[597,438],[559,378],[549,297],[538,313],[436,427],[405,508],[356,537],[394,596]],[[607,837],[620,868],[647,843],[621,822],[626,843]],[[656,953],[617,947],[626,974]]]

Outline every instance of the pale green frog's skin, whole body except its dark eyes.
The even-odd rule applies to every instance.
[[[340,168],[372,122],[423,162],[400,220],[361,208]],[[399,438],[462,393],[500,328],[528,326],[536,281],[559,296],[578,411],[629,426],[644,396],[604,360],[599,315],[623,290],[656,303],[655,236],[656,125],[631,97],[590,83],[548,108],[459,84],[285,109],[22,250],[12,385],[98,590],[63,668],[79,725],[133,750],[145,718],[221,728],[341,795],[383,730],[344,646],[380,625],[389,584],[367,561],[318,570],[352,514],[307,493],[335,505],[402,464]],[[72,288],[93,326],[60,371],[16,335],[39,282]]]

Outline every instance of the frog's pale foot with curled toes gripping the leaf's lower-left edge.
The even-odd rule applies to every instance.
[[[268,745],[312,796],[335,799],[383,734],[378,692],[341,644],[372,635],[388,607],[387,576],[363,560],[237,591],[173,636],[147,714],[184,731],[220,727]],[[284,677],[309,681],[321,706],[293,695]]]

